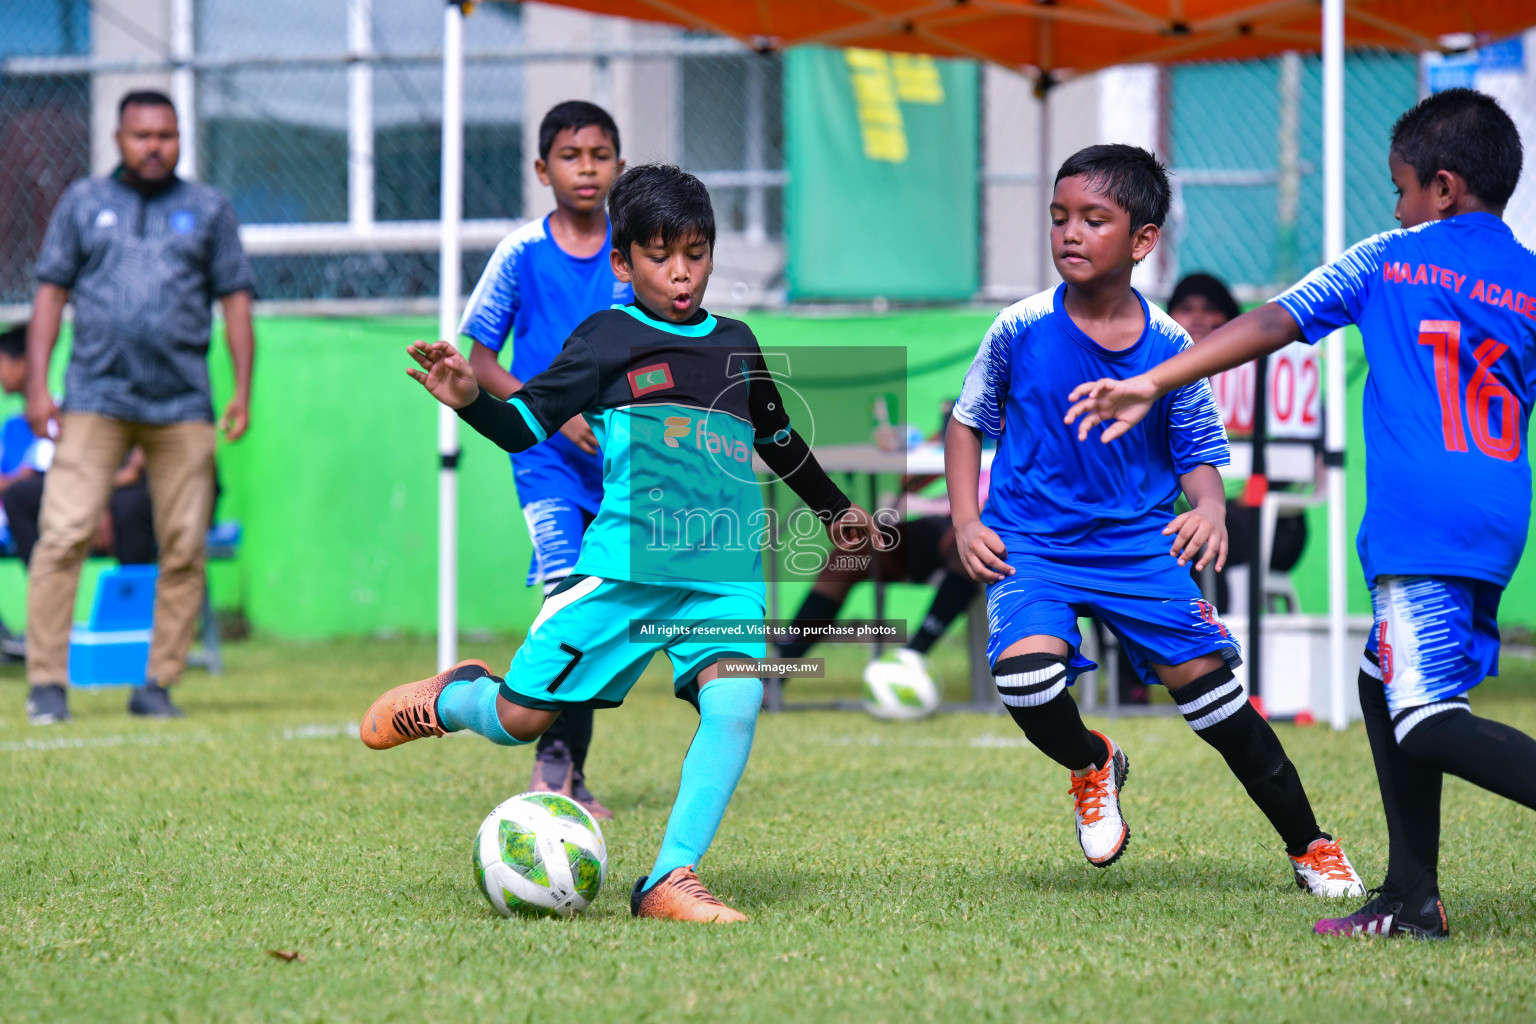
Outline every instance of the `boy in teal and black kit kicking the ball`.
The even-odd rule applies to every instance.
[[[648,545],[650,517],[759,519],[756,451],[834,540],[874,542],[872,524],[790,425],[751,330],[702,307],[714,252],[714,210],[703,184],[677,167],[636,167],[613,186],[608,207],[613,272],[634,286],[634,302],[582,321],[550,368],[510,401],[478,387],[447,342],[410,348],[421,367],[410,375],[507,451],[531,448],[573,416],[587,416],[605,459],[602,502],[581,557],[544,602],[505,680],[481,662],[461,662],[396,686],[369,708],[361,735],[375,749],[458,729],[493,743],[527,743],[567,708],[617,706],[651,656],[665,651],[677,695],[699,711],[699,731],[684,758],[662,849],[650,875],[634,884],[630,910],[745,921],[703,887],[696,866],[746,765],[762,705],[762,680],[720,676],[719,662],[760,659],[765,646],[723,634],[641,629],[647,622],[762,622],[760,548],[690,547],[676,537]]]

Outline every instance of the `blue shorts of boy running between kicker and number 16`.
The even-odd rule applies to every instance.
[[[1181,573],[1183,574],[1183,573]],[[1187,574],[1189,597],[1163,599],[1086,590],[1029,576],[1009,576],[986,588],[991,637],[986,660],[997,665],[1009,645],[1032,636],[1064,640],[1072,648],[1068,683],[1095,668],[1081,654],[1077,620],[1092,616],[1104,623],[1146,683],[1158,682],[1152,665],[1183,665],[1204,654],[1220,654],[1227,666],[1243,663],[1243,651],[1221,625],[1217,609],[1200,597]]]

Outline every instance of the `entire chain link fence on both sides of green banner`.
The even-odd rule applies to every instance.
[[[184,169],[233,201],[260,298],[430,304],[441,189],[438,3],[29,0],[6,11],[0,306],[29,299],[49,212],[71,181],[111,169],[117,98],[146,86],[192,97],[183,111]],[[1413,55],[1356,51],[1346,78],[1353,241],[1393,226],[1387,137],[1421,95],[1421,68]],[[1511,78],[1499,95],[1536,130],[1530,81]],[[710,186],[722,232],[717,302],[782,296],[783,58],[531,3],[484,3],[465,23],[465,290],[501,236],[550,209],[531,169],[538,120],[571,97],[614,114],[631,163],[679,163]],[[1256,299],[1321,259],[1316,57],[1121,69],[1054,89],[1048,111],[1041,121],[1028,78],[983,75],[975,187],[986,301],[1054,279],[1040,178],[1049,186],[1068,154],[1095,141],[1144,144],[1174,170],[1164,244],[1138,270],[1149,293],[1166,295],[1180,275],[1207,270]],[[1510,210],[1527,241],[1536,230],[1533,177]]]

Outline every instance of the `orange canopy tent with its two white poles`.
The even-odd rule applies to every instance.
[[[865,46],[983,60],[1029,74],[1041,101],[1057,81],[1134,63],[1272,57],[1322,51],[1324,256],[1344,252],[1344,40],[1390,49],[1467,49],[1536,25],[1536,0],[550,0],[591,14],[730,35],[754,49]],[[455,336],[462,184],[464,8],[447,0],[442,104],[439,336]],[[1321,14],[1321,17],[1319,17]],[[1041,107],[1044,112],[1044,106]],[[1041,118],[1044,120],[1044,118]],[[1046,170],[1044,167],[1041,169]],[[1049,180],[1048,173],[1041,180]],[[1329,611],[1335,729],[1344,692],[1347,556],[1344,519],[1344,336],[1327,356]],[[438,663],[456,660],[458,425],[439,418]],[[1256,656],[1256,652],[1255,652]]]

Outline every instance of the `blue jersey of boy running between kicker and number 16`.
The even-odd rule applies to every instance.
[[[1129,378],[1190,345],[1141,295],[1146,329],[1123,352],[1083,333],[1057,286],[1003,310],[966,372],[954,416],[997,438],[982,522],[1026,576],[1112,593],[1184,597],[1189,570],[1169,557],[1178,477],[1230,456],[1207,381],[1158,401],[1117,444],[1077,439],[1061,422],[1083,381]],[[1175,570],[1175,571],[1170,571]]]

